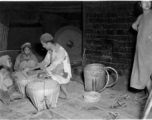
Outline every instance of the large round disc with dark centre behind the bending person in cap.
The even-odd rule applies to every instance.
[[[55,42],[59,43],[69,54],[71,61],[82,60],[82,32],[76,27],[65,26],[60,28],[54,36]],[[73,58],[75,56],[75,58]]]

